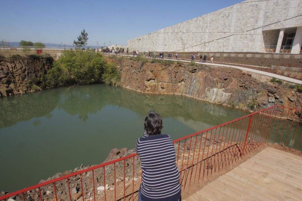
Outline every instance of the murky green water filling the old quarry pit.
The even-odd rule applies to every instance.
[[[111,149],[135,148],[155,110],[173,140],[249,114],[183,96],[106,85],[69,86],[0,99],[0,191],[37,184]]]

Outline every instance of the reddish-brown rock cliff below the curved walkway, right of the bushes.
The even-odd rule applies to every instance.
[[[121,86],[142,93],[188,96],[231,107],[260,110],[272,105],[301,109],[302,94],[261,82],[234,68],[119,60]]]

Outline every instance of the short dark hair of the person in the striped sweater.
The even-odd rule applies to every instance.
[[[148,135],[160,134],[162,131],[162,118],[156,113],[149,113],[145,118],[144,128]]]

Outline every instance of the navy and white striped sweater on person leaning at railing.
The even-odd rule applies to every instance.
[[[143,201],[177,201],[181,195],[175,148],[169,135],[145,132],[136,143],[143,176],[140,192]]]

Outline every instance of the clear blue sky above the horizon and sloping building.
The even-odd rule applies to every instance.
[[[72,45],[81,30],[88,45],[127,40],[243,0],[1,0],[0,40]]]

